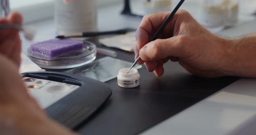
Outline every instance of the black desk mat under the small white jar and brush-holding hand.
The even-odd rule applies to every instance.
[[[112,50],[117,51],[118,59],[134,61],[133,53]],[[165,64],[164,70],[164,76],[158,78],[143,66],[139,69],[140,86],[133,89],[118,87],[116,78],[107,81],[112,96],[77,131],[83,135],[135,135],[239,79],[196,77],[171,61]]]

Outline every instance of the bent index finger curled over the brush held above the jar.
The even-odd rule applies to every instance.
[[[158,39],[168,39],[173,35],[177,35],[180,26],[184,23],[187,17],[187,11],[178,10],[167,26],[163,29]],[[159,12],[144,16],[136,31],[136,40],[138,42],[137,49],[140,50],[153,37],[155,32],[161,27],[165,19],[170,15],[170,12]]]

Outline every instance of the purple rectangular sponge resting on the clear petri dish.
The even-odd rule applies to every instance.
[[[73,39],[51,39],[31,45],[30,51],[52,58],[68,54],[69,52],[80,51],[82,48],[82,41]]]

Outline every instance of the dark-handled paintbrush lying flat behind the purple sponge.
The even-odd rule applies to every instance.
[[[78,32],[67,35],[59,35],[56,38],[64,39],[64,38],[79,38],[79,37],[94,37],[99,35],[111,35],[111,34],[125,34],[129,32],[129,29],[120,29],[114,31],[106,31],[106,32]]]

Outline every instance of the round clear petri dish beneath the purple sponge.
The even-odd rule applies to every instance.
[[[28,57],[41,68],[66,69],[89,64],[96,58],[96,45],[92,42],[84,41],[82,51],[72,52],[58,57],[47,57],[39,53],[34,53],[28,48]]]

